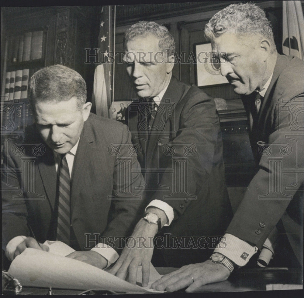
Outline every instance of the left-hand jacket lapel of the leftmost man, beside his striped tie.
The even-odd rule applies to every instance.
[[[54,210],[56,200],[57,172],[55,167],[54,153],[47,145],[46,153],[37,157],[37,164],[45,192],[50,201],[50,205]]]

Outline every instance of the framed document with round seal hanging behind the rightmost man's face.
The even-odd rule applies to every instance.
[[[194,44],[195,51],[195,84],[198,87],[229,84],[226,77],[221,75],[220,63],[212,61],[211,43]]]

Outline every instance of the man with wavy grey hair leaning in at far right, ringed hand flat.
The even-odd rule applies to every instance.
[[[274,251],[277,264],[303,266],[304,62],[278,55],[270,22],[255,4],[224,8],[205,35],[219,56],[221,74],[242,97],[258,171],[226,230],[226,247],[218,246],[204,263],[165,275],[152,285],[158,290],[189,286],[192,292],[225,280],[263,245],[272,253],[273,236],[277,249],[285,250],[279,258]]]

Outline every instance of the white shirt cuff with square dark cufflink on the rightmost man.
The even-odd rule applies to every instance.
[[[251,246],[246,241],[226,233],[214,252],[223,254],[238,266],[245,266],[257,250],[256,246]]]

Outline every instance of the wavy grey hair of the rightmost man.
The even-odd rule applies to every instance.
[[[225,32],[238,37],[264,37],[269,40],[271,53],[276,52],[271,24],[263,9],[253,3],[231,4],[217,12],[205,25],[205,37],[213,41]]]

